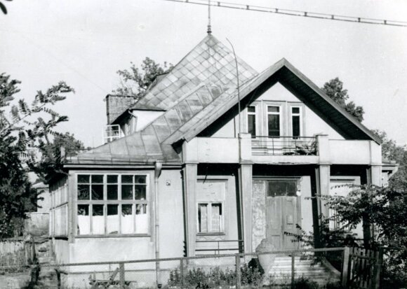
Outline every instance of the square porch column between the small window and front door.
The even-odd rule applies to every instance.
[[[244,253],[252,252],[252,216],[251,216],[251,188],[253,164],[241,164],[239,183],[241,189],[241,208],[243,213],[243,241]]]

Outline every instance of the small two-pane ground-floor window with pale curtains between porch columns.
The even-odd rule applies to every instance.
[[[223,232],[222,203],[198,203],[198,232]]]

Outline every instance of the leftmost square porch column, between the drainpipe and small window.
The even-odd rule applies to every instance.
[[[185,164],[184,168],[184,216],[185,241],[188,257],[195,255],[196,241],[196,179],[198,164]]]

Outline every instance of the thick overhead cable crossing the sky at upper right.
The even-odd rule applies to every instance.
[[[276,13],[276,14],[281,14],[281,15],[309,17],[309,18],[324,19],[324,20],[335,20],[335,21],[356,22],[356,23],[364,23],[364,24],[381,24],[381,25],[388,25],[388,26],[407,27],[407,22],[405,22],[405,21],[380,20],[380,19],[374,19],[374,18],[354,17],[354,16],[335,15],[335,14],[328,14],[328,13],[316,13],[316,12],[308,12],[308,11],[300,11],[300,10],[280,9],[280,8],[254,6],[254,5],[246,5],[246,4],[230,3],[230,2],[222,2],[222,1],[212,1],[212,3],[208,3],[207,0],[162,0],[162,1],[189,3],[189,4],[206,5],[206,6],[211,5],[211,6],[221,7],[221,8],[232,8],[232,9],[239,9],[239,10],[265,12],[265,13]]]

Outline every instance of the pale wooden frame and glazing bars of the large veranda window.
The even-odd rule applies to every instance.
[[[93,175],[101,175],[103,176],[103,198],[100,200],[93,200],[91,199],[92,192],[89,192],[89,199],[78,199],[78,185],[83,183],[79,183],[79,175],[89,175],[89,184],[92,183],[92,176]],[[107,183],[107,176],[117,176],[116,183]],[[122,183],[121,176],[133,176],[133,182],[131,183],[133,187],[132,192],[132,199],[121,199],[121,192],[122,192]],[[135,181],[134,176],[145,176],[145,183],[137,183]],[[75,218],[75,227],[74,236],[77,238],[81,237],[148,237],[151,234],[151,189],[150,189],[150,178],[149,173],[147,172],[103,172],[103,173],[93,173],[92,171],[86,172],[77,172],[74,176],[75,179],[75,204],[74,204],[74,218]],[[117,199],[107,199],[107,185],[117,185]],[[130,184],[130,183],[128,183]],[[135,185],[145,185],[145,199],[135,199]],[[133,233],[121,233],[122,227],[122,208],[123,205],[131,204],[132,208],[132,218],[133,218]],[[147,214],[147,232],[137,233],[136,230],[136,210],[138,205],[147,205],[146,214]],[[88,234],[79,234],[79,222],[78,222],[78,207],[79,205],[88,205],[88,217],[89,217],[89,233]],[[104,234],[92,234],[93,233],[93,206],[94,205],[102,205],[103,206],[103,217],[104,217]],[[118,205],[118,216],[119,216],[119,223],[118,223],[118,233],[116,234],[109,234],[107,232],[108,225],[107,225],[107,206],[108,205]]]

